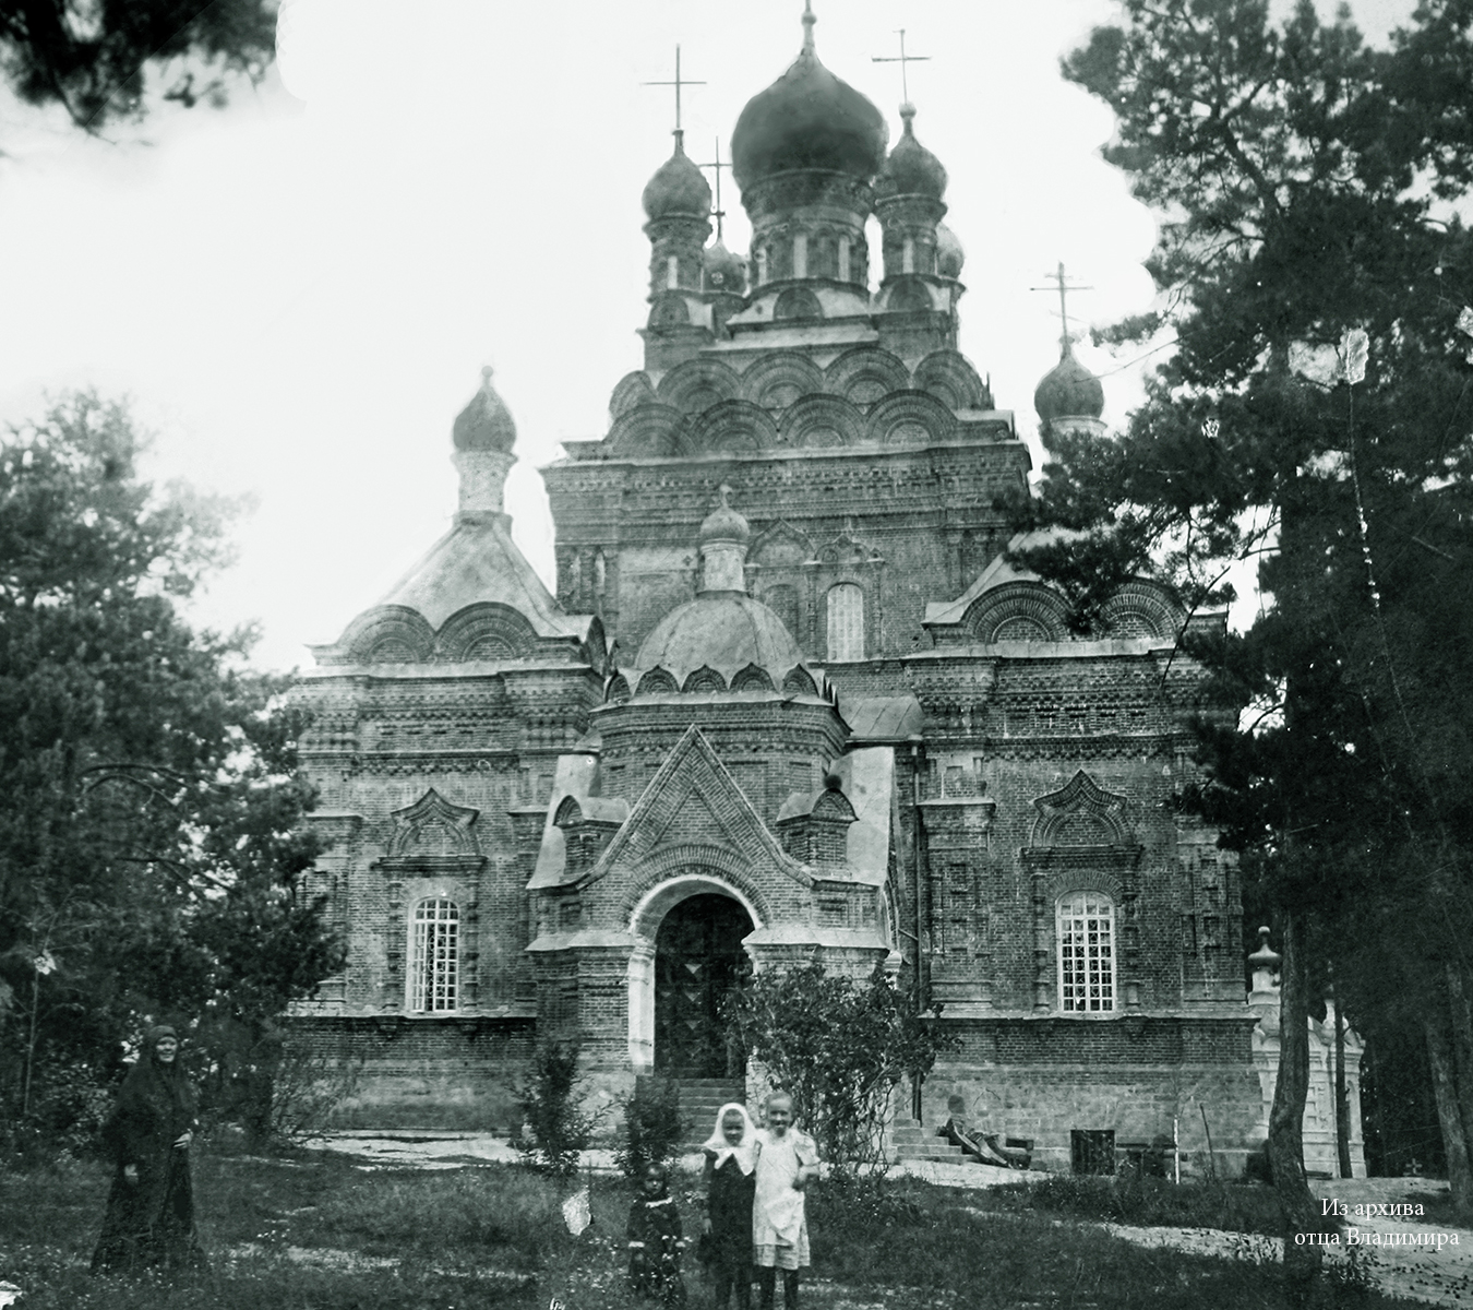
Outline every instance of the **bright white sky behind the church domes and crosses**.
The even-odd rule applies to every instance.
[[[1276,0],[1286,9],[1286,0]],[[1411,0],[1360,0],[1373,41]],[[1323,6],[1329,15],[1329,4]],[[156,435],[149,472],[249,497],[197,622],[258,620],[258,662],[305,666],[448,529],[449,430],[480,368],[517,421],[514,535],[551,579],[536,470],[607,432],[641,367],[639,195],[669,158],[682,49],[688,153],[728,153],[797,56],[801,0],[286,0],[278,62],[224,111],[159,106],[106,140],[0,99],[0,424],[94,386]],[[1152,302],[1152,215],[1099,147],[1112,115],[1059,57],[1111,0],[816,0],[825,65],[950,174],[966,249],[960,348],[1036,444],[1062,262],[1081,326]],[[723,172],[726,243],[748,225]],[[878,265],[878,261],[876,261]],[[1142,362],[1086,342],[1105,418]],[[1036,461],[1038,455],[1036,454]]]

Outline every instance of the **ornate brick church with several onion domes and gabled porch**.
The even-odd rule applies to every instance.
[[[1205,1110],[1242,1160],[1239,878],[1175,805],[1203,709],[1178,637],[1224,616],[1140,579],[1080,634],[1008,561],[1031,460],[957,349],[947,174],[900,116],[890,147],[804,15],[731,136],[747,258],[676,131],[644,190],[644,367],[542,470],[555,594],[508,530],[488,370],[449,533],[314,650],[309,892],[349,958],[296,1024],[362,1062],[362,1121],[504,1132],[548,1039],[600,1096],[739,1095],[720,998],[820,961],[890,970],[956,1034],[928,1132],[962,1098],[1089,1167],[1174,1121],[1196,1148]],[[1066,336],[1034,405],[1105,439]]]

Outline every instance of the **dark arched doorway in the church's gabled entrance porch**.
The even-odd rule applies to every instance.
[[[747,968],[741,939],[751,918],[729,896],[688,896],[666,914],[654,943],[654,1067],[670,1077],[739,1076],[722,998]]]

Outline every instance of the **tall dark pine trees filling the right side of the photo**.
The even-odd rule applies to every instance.
[[[1125,576],[1196,610],[1259,561],[1252,628],[1184,642],[1251,728],[1200,725],[1183,803],[1282,928],[1270,1148],[1304,1199],[1298,1037],[1333,974],[1373,1039],[1424,1029],[1473,1204],[1470,69],[1466,0],[1420,4],[1383,50],[1304,0],[1277,27],[1259,0],[1125,0],[1064,65],[1114,108],[1106,158],[1161,221],[1156,311],[1102,336],[1173,349],[1118,439],[1046,433],[1019,520],[1072,533],[1022,561],[1080,628]]]

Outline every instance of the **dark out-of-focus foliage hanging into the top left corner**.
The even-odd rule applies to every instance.
[[[93,134],[143,118],[150,71],[168,81],[165,100],[219,106],[227,74],[265,75],[275,9],[271,0],[0,0],[0,72],[22,100],[60,105]]]

